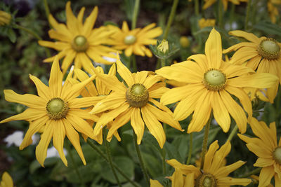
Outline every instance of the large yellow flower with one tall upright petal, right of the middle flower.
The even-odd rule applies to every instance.
[[[164,78],[184,83],[164,93],[160,102],[178,102],[174,111],[176,120],[187,118],[193,111],[188,125],[188,133],[199,132],[209,119],[211,111],[224,132],[230,127],[230,115],[237,123],[240,132],[246,132],[247,118],[252,115],[251,101],[242,88],[268,88],[276,83],[277,77],[271,74],[250,74],[248,67],[223,62],[221,36],[212,29],[205,45],[206,55],[192,55],[188,61],[163,67],[156,71]],[[190,61],[194,60],[194,61]],[[240,99],[242,107],[231,95]]]

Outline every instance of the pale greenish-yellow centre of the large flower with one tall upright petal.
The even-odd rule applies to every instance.
[[[203,84],[208,90],[218,91],[226,87],[226,74],[218,69],[210,69],[204,74]]]

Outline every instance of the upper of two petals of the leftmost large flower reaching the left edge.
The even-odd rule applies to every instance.
[[[20,95],[13,90],[4,90],[5,99],[7,102],[15,102],[24,104],[33,109],[46,109],[46,101],[37,95],[24,94]]]

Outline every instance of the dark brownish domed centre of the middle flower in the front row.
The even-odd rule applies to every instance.
[[[148,89],[140,83],[133,84],[126,91],[126,99],[130,106],[141,108],[148,103]]]

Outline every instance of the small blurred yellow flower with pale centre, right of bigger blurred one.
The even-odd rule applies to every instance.
[[[155,27],[155,23],[152,23],[143,29],[137,28],[129,30],[127,22],[123,22],[122,29],[116,27],[117,32],[112,34],[112,39],[115,41],[115,48],[117,50],[125,50],[127,57],[131,54],[152,57],[152,53],[145,45],[155,45],[157,40],[154,39],[162,34],[161,27]]]

